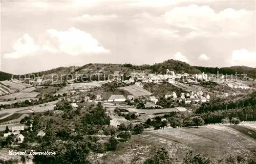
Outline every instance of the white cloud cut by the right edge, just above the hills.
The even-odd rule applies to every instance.
[[[241,49],[232,52],[231,65],[245,65],[256,67],[256,51],[249,52],[248,50]]]

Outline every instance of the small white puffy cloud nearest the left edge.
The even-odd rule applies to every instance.
[[[4,58],[17,59],[24,56],[34,55],[33,53],[38,51],[40,46],[36,45],[34,40],[28,34],[24,34],[23,37],[14,42],[12,48],[15,52],[4,54]]]

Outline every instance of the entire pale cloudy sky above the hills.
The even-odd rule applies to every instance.
[[[1,71],[87,63],[256,67],[254,0],[2,0]]]

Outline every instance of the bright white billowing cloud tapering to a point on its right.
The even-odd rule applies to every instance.
[[[92,53],[110,53],[92,37],[91,34],[76,28],[70,28],[68,31],[57,31],[50,29],[47,31],[52,37],[58,38],[58,51],[70,55],[92,54]]]

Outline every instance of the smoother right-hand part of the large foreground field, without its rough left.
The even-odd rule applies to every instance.
[[[252,155],[256,141],[237,130],[222,125],[208,125],[199,128],[177,128],[148,132],[182,143],[196,153],[215,158],[232,155]]]

